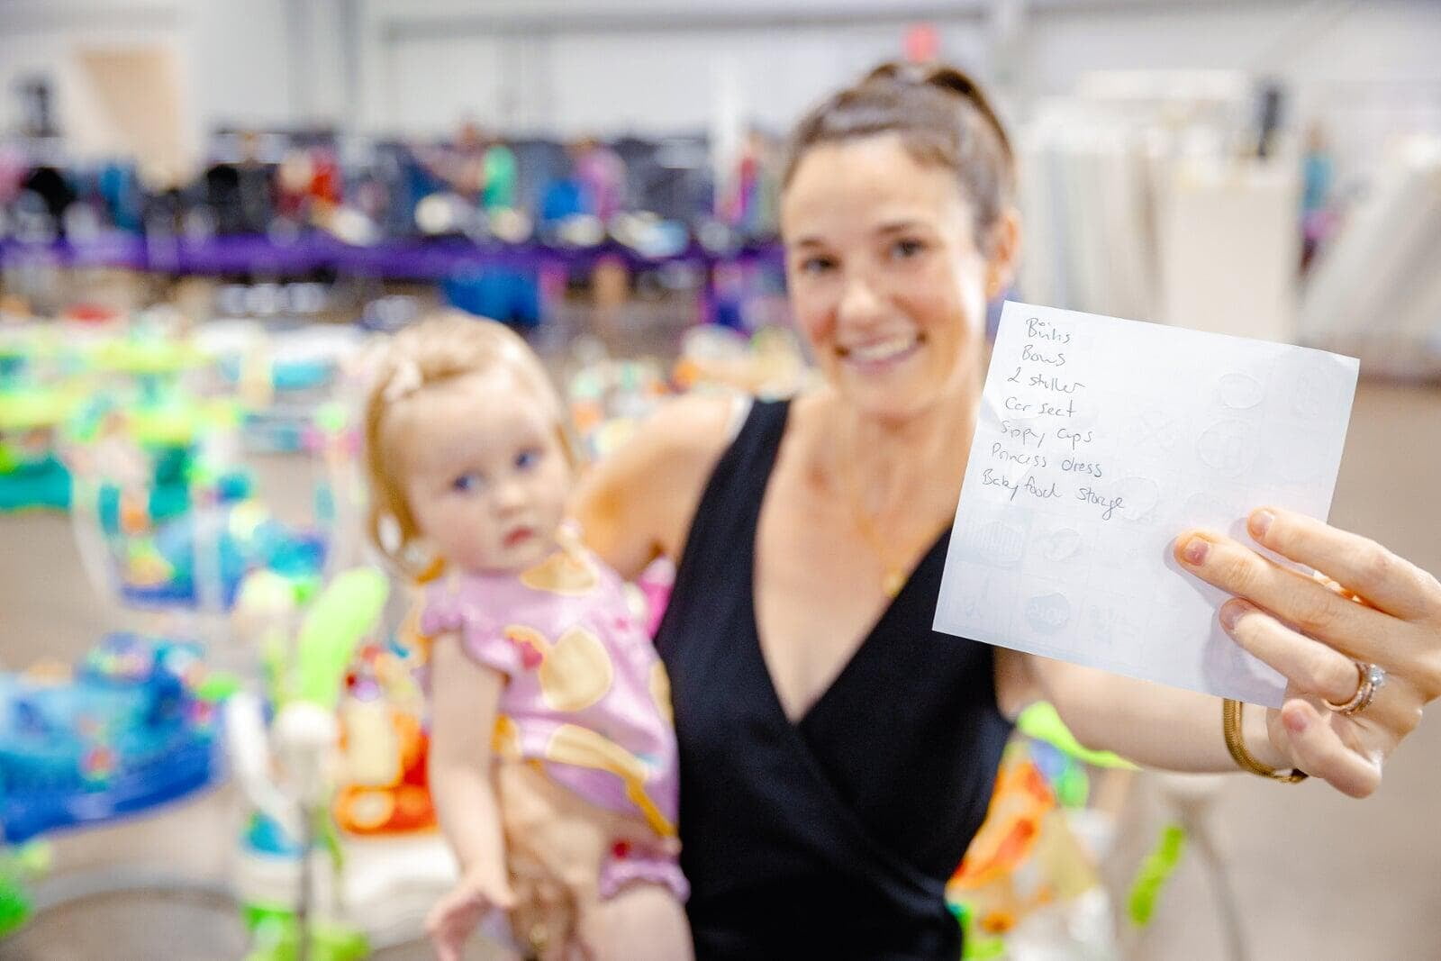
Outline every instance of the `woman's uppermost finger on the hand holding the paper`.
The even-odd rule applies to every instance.
[[[1257,543],[1314,568],[1399,618],[1441,617],[1441,584],[1375,540],[1280,507],[1251,513],[1246,529]]]

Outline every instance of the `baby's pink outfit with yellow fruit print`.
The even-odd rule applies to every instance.
[[[425,589],[419,628],[458,633],[470,657],[506,676],[497,755],[542,761],[586,801],[676,836],[670,683],[620,576],[598,558],[574,545],[519,575],[441,578]],[[686,896],[674,859],[618,853],[602,895],[630,880]]]

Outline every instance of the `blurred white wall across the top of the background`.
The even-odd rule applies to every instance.
[[[1022,24],[1000,46],[997,9]],[[1290,79],[1300,108],[1372,138],[1441,114],[1431,0],[4,0],[0,124],[17,120],[12,82],[46,68],[84,120],[66,79],[76,45],[163,42],[196,133],[317,120],[441,133],[464,115],[556,134],[703,130],[720,89],[785,127],[898,56],[918,17],[1013,102],[1092,69],[1197,66]]]

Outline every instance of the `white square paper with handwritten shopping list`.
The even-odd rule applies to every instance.
[[[1352,357],[1007,303],[935,630],[1280,706],[1172,556],[1187,527],[1251,545],[1267,504],[1324,519]]]

